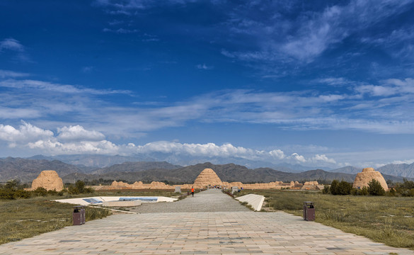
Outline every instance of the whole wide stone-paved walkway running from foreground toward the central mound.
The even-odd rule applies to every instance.
[[[284,212],[246,210],[218,190],[142,212],[3,244],[0,254],[414,254]]]

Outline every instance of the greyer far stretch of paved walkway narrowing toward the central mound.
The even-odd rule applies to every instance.
[[[209,189],[183,200],[165,203],[142,203],[130,212],[236,212],[251,211],[219,189]]]

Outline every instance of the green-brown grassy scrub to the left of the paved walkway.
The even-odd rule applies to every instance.
[[[0,200],[0,244],[72,225],[74,205],[49,199]],[[86,220],[106,217],[108,214],[108,210],[86,208]]]

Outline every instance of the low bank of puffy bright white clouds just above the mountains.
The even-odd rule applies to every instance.
[[[145,145],[116,145],[105,140],[103,133],[86,130],[81,125],[65,126],[57,128],[55,135],[50,130],[38,128],[29,123],[23,122],[18,128],[11,125],[0,124],[0,140],[8,142],[10,147],[32,149],[33,153],[43,154],[151,154],[163,153],[171,154],[176,157],[237,157],[248,160],[258,160],[265,162],[281,162],[287,160],[296,163],[325,162],[335,164],[333,159],[328,159],[326,155],[316,154],[311,159],[293,153],[286,157],[281,149],[270,151],[251,149],[246,147],[236,147],[230,143],[215,145],[214,143],[194,144],[180,142],[149,142]]]

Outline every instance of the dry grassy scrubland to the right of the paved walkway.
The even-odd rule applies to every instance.
[[[254,193],[267,196],[268,203],[275,210],[297,216],[303,215],[304,201],[312,201],[316,208],[316,222],[389,246],[414,249],[414,198],[333,196],[275,190],[255,190]]]

